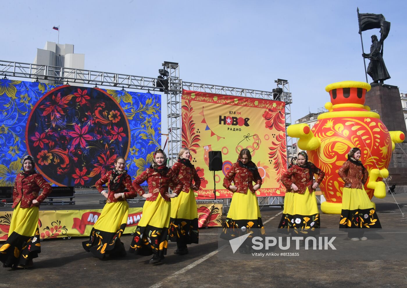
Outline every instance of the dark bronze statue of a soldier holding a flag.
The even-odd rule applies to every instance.
[[[386,65],[383,60],[383,41],[389,35],[390,22],[386,21],[382,14],[363,13],[359,14],[359,8],[357,9],[359,20],[359,34],[362,40],[362,31],[370,30],[373,28],[380,28],[380,40],[378,41],[376,35],[372,35],[372,45],[370,46],[370,53],[366,54],[363,51],[362,42],[362,56],[363,58],[370,59],[368,69],[365,72],[369,74],[373,79],[373,83],[383,84],[384,80],[390,79],[389,72],[387,72]],[[364,62],[364,61],[363,61]],[[366,76],[366,82],[368,78]]]

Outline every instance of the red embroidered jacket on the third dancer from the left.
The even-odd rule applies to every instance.
[[[149,193],[153,194],[153,196],[147,198],[146,201],[155,201],[159,194],[165,201],[171,201],[169,197],[165,196],[165,193],[168,193],[170,184],[175,186],[173,193],[176,195],[178,195],[182,189],[182,182],[178,181],[171,168],[168,169],[167,174],[164,176],[161,176],[161,174],[156,172],[153,168],[147,168],[146,171],[138,175],[133,181],[133,186],[140,196],[146,194],[143,188],[140,187],[140,184],[146,180],[149,185]]]

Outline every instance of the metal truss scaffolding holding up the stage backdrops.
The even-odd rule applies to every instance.
[[[182,89],[191,91],[201,91],[208,93],[217,93],[223,95],[253,97],[269,100],[279,100],[286,103],[285,121],[286,127],[291,124],[291,106],[292,97],[289,91],[287,80],[277,79],[274,82],[277,88],[273,91],[260,91],[252,89],[243,89],[236,87],[227,87],[213,84],[202,84],[194,82],[183,82],[179,78],[179,65],[174,62],[164,61],[162,66],[168,74],[164,74],[161,79],[144,76],[134,76],[128,74],[118,74],[103,71],[73,69],[66,67],[38,65],[31,63],[13,62],[0,60],[0,75],[7,77],[31,78],[35,80],[53,81],[55,83],[65,84],[88,84],[107,87],[122,87],[135,90],[161,91],[167,96],[168,106],[168,156],[170,159],[176,159],[177,153],[182,147],[181,139],[181,96]],[[161,70],[161,69],[160,69]],[[164,72],[166,72],[164,71]],[[161,73],[160,73],[161,74]],[[164,81],[163,81],[164,79]],[[158,82],[163,81],[164,87],[160,87]],[[166,82],[167,81],[167,82]],[[286,131],[287,132],[287,131]],[[287,136],[287,133],[286,133]],[[296,153],[294,139],[287,136],[287,157],[292,157]]]

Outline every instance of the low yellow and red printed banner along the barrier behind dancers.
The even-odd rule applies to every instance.
[[[198,204],[198,225],[201,227],[221,227],[222,204]],[[39,211],[39,234],[41,239],[89,236],[102,209]],[[7,240],[12,211],[0,212],[0,241]],[[136,231],[142,217],[142,208],[129,208],[124,234]]]

